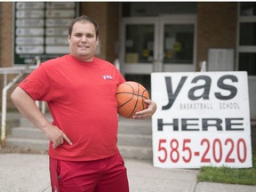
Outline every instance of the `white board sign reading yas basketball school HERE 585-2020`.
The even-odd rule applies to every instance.
[[[152,73],[151,84],[154,166],[252,167],[246,72]]]

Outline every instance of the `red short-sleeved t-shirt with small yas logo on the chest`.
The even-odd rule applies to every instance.
[[[34,100],[48,102],[53,122],[73,145],[49,145],[49,156],[89,161],[117,152],[116,88],[124,77],[108,61],[76,60],[71,55],[47,60],[19,86]]]

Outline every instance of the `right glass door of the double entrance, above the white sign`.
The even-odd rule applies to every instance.
[[[191,15],[160,18],[160,72],[196,70],[196,17]]]

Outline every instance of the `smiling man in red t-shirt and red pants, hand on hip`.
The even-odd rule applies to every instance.
[[[99,26],[87,16],[76,18],[68,29],[70,54],[47,60],[12,92],[23,116],[50,140],[52,191],[128,192],[124,160],[116,147],[116,88],[124,77],[114,65],[94,56]],[[102,76],[111,76],[104,79]],[[53,122],[36,107],[48,102]],[[134,119],[150,118],[156,103]]]

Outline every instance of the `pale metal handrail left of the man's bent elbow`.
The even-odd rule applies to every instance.
[[[5,134],[6,134],[6,111],[7,111],[7,92],[12,88],[13,84],[16,84],[24,74],[31,73],[35,68],[38,67],[41,60],[36,56],[32,63],[22,67],[12,68],[0,68],[0,75],[4,75],[4,88],[2,91],[2,123],[1,123],[1,143],[2,147],[5,147]],[[12,80],[7,83],[7,76],[10,74],[16,74]],[[37,103],[38,106],[38,103]]]

